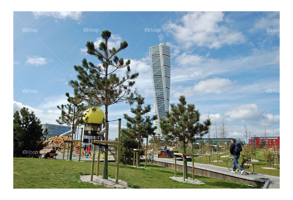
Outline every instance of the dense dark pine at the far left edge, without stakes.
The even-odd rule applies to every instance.
[[[44,135],[47,134],[45,130]],[[41,121],[23,107],[13,114],[13,157],[38,157],[45,137]]]

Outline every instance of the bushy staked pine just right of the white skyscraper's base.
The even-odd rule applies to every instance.
[[[185,96],[179,97],[179,104],[170,104],[171,111],[166,111],[166,118],[161,118],[160,126],[165,140],[178,137],[183,142],[183,153],[186,153],[186,142],[194,142],[195,136],[203,136],[208,133],[209,119],[202,124],[200,113],[195,109],[194,104],[186,104]],[[185,178],[187,178],[187,161],[185,160]]]

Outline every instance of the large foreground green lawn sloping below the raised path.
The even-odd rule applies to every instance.
[[[144,167],[144,162],[141,163]],[[96,168],[96,165],[95,165]],[[219,180],[195,175],[195,179],[205,184],[182,183],[169,178],[174,169],[147,163],[148,169],[135,168],[132,165],[119,165],[119,179],[126,181],[130,188],[260,188],[250,187],[227,180]],[[115,178],[116,162],[108,163],[108,176]],[[40,158],[13,158],[13,188],[107,188],[82,182],[80,175],[90,174],[91,162]],[[100,163],[99,175],[103,163]],[[94,169],[96,172],[96,169]],[[182,171],[177,176],[183,176]],[[188,174],[192,178],[192,174]]]

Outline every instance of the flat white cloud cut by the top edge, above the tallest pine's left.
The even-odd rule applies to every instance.
[[[72,19],[72,20],[80,20],[81,18],[81,12],[76,11],[76,12],[69,12],[69,11],[62,11],[62,12],[33,12],[34,16],[36,18],[38,17],[54,17],[56,19],[64,20],[66,18]]]

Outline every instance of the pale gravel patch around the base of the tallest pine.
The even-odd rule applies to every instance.
[[[91,175],[81,175],[79,176],[80,180],[84,181],[84,182],[88,182],[88,183],[92,183],[95,185],[102,185],[105,187],[117,187],[117,188],[128,188],[128,183],[126,183],[123,180],[118,180],[118,183],[115,182],[115,179],[112,179],[110,177],[108,177],[107,179],[102,179],[102,176],[96,176],[94,175],[92,177],[92,181],[91,181]]]

